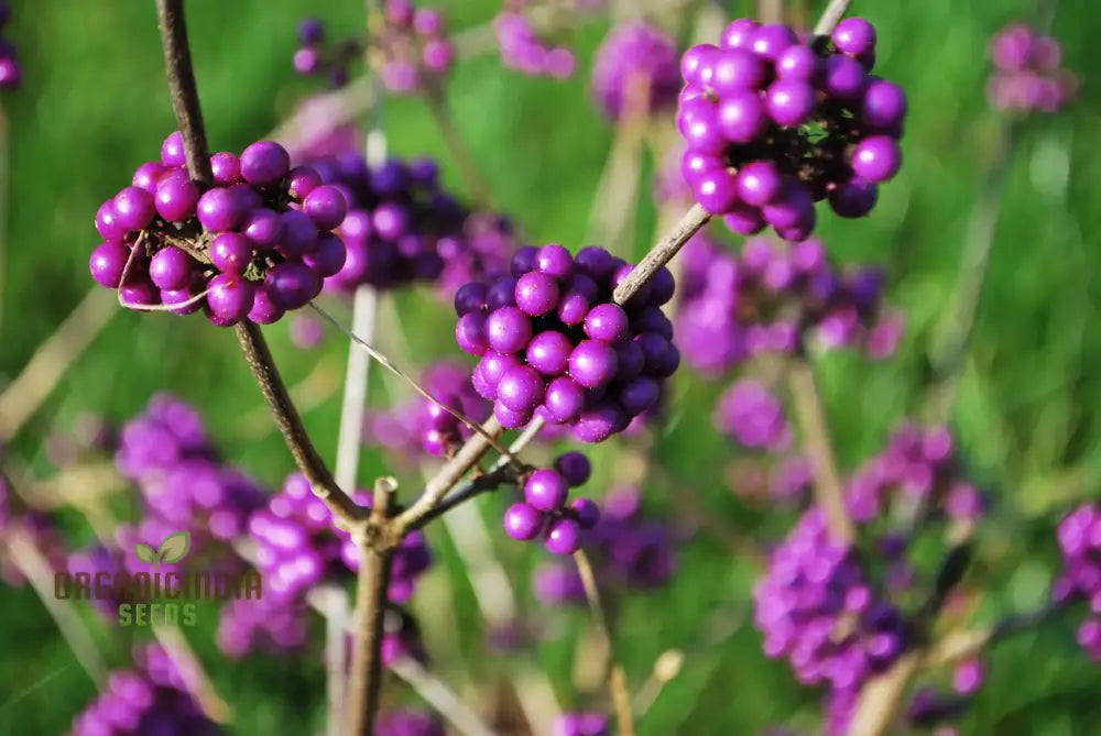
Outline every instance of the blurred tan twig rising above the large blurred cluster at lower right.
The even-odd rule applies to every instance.
[[[836,540],[851,545],[855,539],[855,528],[844,505],[844,486],[837,470],[814,366],[805,355],[799,354],[792,359],[787,374],[795,414],[814,473],[815,502],[826,512]]]

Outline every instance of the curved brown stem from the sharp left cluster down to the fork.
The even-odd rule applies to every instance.
[[[298,416],[298,410],[291,402],[286,385],[280,376],[260,327],[250,320],[238,323],[237,339],[241,343],[241,350],[244,351],[244,359],[249,363],[252,375],[260,384],[260,392],[264,395],[264,400],[268,402],[268,407],[272,410],[275,424],[283,433],[283,439],[286,441],[291,454],[294,455],[295,463],[309,481],[314,493],[333,509],[333,513],[346,526],[362,519],[362,509],[337,485],[328,465],[321,460],[317,448],[314,447],[306,432],[306,428],[302,425],[302,417]]]

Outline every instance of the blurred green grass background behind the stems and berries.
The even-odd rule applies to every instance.
[[[212,150],[240,151],[317,89],[315,80],[296,77],[291,67],[303,15],[319,14],[337,36],[361,28],[364,20],[362,3],[351,1],[186,4]],[[455,30],[484,26],[500,9],[494,0],[436,4]],[[674,13],[683,41],[691,36],[701,4],[688,3]],[[728,18],[756,12],[755,3],[723,4]],[[825,3],[785,4],[796,17],[814,19]],[[839,262],[882,265],[889,274],[887,301],[907,319],[898,354],[890,361],[839,350],[819,362],[847,470],[879,451],[892,427],[920,411],[930,347],[949,314],[968,223],[1003,125],[984,94],[986,44],[1007,22],[1038,18],[1033,3],[1016,0],[858,0],[853,12],[875,24],[876,72],[906,89],[911,112],[903,139],[905,165],[882,188],[872,216],[841,220],[820,208],[817,234],[831,255]],[[586,244],[613,141],[613,130],[588,90],[593,51],[608,28],[607,19],[597,17],[560,36],[578,52],[579,70],[569,80],[502,68],[489,36],[486,53],[458,64],[448,81],[447,106],[493,201],[531,242],[559,242],[571,250]],[[1090,3],[1061,3],[1051,32],[1064,44],[1065,67],[1082,79],[1080,95],[1058,114],[1036,114],[1015,129],[989,273],[951,419],[972,477],[993,492],[993,521],[980,536],[966,581],[968,590],[984,591],[973,596],[979,622],[1043,603],[1058,567],[1055,521],[1075,502],[1095,497],[1101,477],[1101,427],[1094,411],[1101,406],[1101,331],[1095,327],[1101,256],[1088,234],[1101,227],[1095,207],[1101,199],[1101,97],[1092,84],[1101,57],[1090,52],[1101,23]],[[152,2],[15,3],[4,33],[19,46],[24,84],[0,99],[8,156],[0,389],[85,295],[98,289],[87,265],[99,242],[96,209],[140,163],[156,156],[175,128]],[[672,130],[672,116],[664,124]],[[392,154],[437,156],[446,185],[466,194],[423,100],[388,99],[384,127]],[[654,242],[659,227],[651,196],[654,168],[646,153],[630,240],[618,245],[635,257]],[[227,460],[276,488],[293,462],[266,420],[231,332],[200,317],[116,308],[110,293],[98,290],[96,296],[106,301],[85,303],[88,326],[77,330],[85,333],[95,326],[98,333],[19,433],[6,438],[6,461],[18,462],[26,477],[48,480],[58,472],[51,439],[72,433],[81,416],[95,411],[118,425],[140,413],[153,394],[171,392],[198,407]],[[346,303],[328,304],[350,321]],[[407,351],[418,365],[458,355],[454,312],[427,289],[396,294],[392,305],[380,327],[384,349]],[[99,330],[98,322],[107,323]],[[291,322],[285,319],[264,332],[287,383],[306,386],[305,422],[331,458],[347,342],[330,330],[320,347],[304,350],[291,339]],[[661,469],[645,476],[643,503],[686,539],[668,584],[614,605],[615,637],[633,683],[646,680],[663,652],[684,652],[679,673],[640,721],[641,734],[753,734],[781,724],[814,733],[816,727],[819,694],[799,688],[785,662],[762,653],[761,635],[752,625],[751,585],[757,568],[732,551],[749,537],[782,537],[795,514],[731,488],[738,485],[737,474],[731,482],[730,464],[739,450],[710,424],[715,402],[729,382],[729,376],[700,381],[685,366],[673,383],[667,422],[642,450]],[[405,395],[395,380],[373,369],[372,383],[373,405]],[[629,443],[617,439],[593,451],[591,495],[599,498],[639,475],[621,447]],[[532,457],[545,462],[550,453],[536,448]],[[363,485],[395,471],[402,496],[411,497],[419,475],[393,468],[377,448],[364,450]],[[102,503],[123,515],[132,493],[122,488]],[[585,641],[588,630],[584,607],[547,608],[535,602],[530,570],[545,552],[497,532],[503,508],[497,497],[479,505],[522,612],[537,617],[545,636],[528,653],[487,653],[471,583],[451,538],[437,525],[428,531],[437,564],[412,604],[434,671],[460,694],[484,704],[493,693],[479,683],[511,677],[519,659],[546,673],[563,707],[603,707],[599,694],[574,683],[578,640]],[[719,531],[693,534],[701,517],[717,519]],[[79,512],[66,509],[59,518],[74,546],[94,538]],[[96,627],[109,664],[129,666],[126,636],[107,630],[88,611],[80,615]],[[215,625],[216,616],[200,616],[199,625],[185,633],[214,689],[232,710],[228,730],[319,730],[319,655],[230,662],[217,649]],[[998,647],[988,661],[989,683],[962,722],[962,733],[1058,736],[1094,733],[1101,723],[1095,669],[1075,644],[1072,622],[1060,619],[1023,634]],[[94,685],[34,591],[0,585],[0,733],[65,733],[94,696]],[[397,683],[388,685],[385,697],[416,702]]]

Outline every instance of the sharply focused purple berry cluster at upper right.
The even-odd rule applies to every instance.
[[[871,211],[902,165],[906,114],[902,89],[869,74],[874,62],[875,30],[861,18],[841,21],[826,48],[744,18],[719,46],[689,48],[677,127],[697,201],[735,232],[772,226],[792,241],[814,230],[816,201],[841,217]]]

